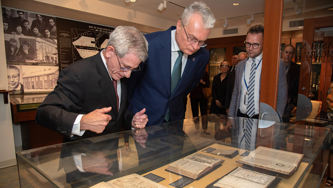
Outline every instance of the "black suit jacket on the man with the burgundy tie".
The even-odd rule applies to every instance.
[[[112,119],[100,134],[86,130],[82,138],[119,132],[121,126],[130,129],[134,114],[126,109],[126,80],[121,79],[119,114],[116,92],[107,69],[98,53],[72,63],[59,74],[57,86],[47,95],[36,113],[36,122],[69,138],[76,117],[95,109],[112,106]],[[74,135],[71,140],[78,136]],[[79,138],[78,138],[79,139]],[[64,139],[65,141],[65,139]]]

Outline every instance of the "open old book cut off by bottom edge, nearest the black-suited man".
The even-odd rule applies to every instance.
[[[130,174],[124,177],[110,180],[108,182],[101,182],[90,188],[129,188],[129,187],[166,188],[165,186],[160,185],[138,174]]]

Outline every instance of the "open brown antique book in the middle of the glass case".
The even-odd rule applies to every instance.
[[[223,159],[194,153],[171,163],[166,171],[180,174],[192,180],[197,180],[223,161]]]

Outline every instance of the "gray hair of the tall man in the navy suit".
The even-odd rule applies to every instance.
[[[193,2],[192,4],[188,5],[184,12],[181,14],[179,20],[183,25],[187,25],[189,19],[194,14],[199,14],[202,18],[202,22],[204,24],[203,29],[211,29],[214,27],[214,23],[216,21],[213,13],[210,11],[210,8],[203,2]]]

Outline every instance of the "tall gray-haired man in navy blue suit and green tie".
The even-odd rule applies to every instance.
[[[142,71],[129,78],[128,99],[129,110],[134,113],[146,108],[146,126],[184,118],[183,97],[205,72],[209,52],[203,47],[214,23],[209,7],[194,2],[185,8],[177,26],[145,35],[148,59],[141,62]],[[174,81],[177,76],[172,73],[180,78]]]

